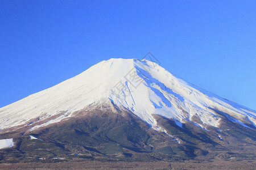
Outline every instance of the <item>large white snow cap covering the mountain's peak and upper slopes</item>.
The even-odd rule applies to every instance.
[[[159,127],[153,114],[173,118],[179,126],[192,121],[202,128],[205,125],[218,128],[221,117],[214,109],[228,114],[233,122],[256,126],[255,111],[189,84],[154,62],[112,58],[56,86],[0,108],[0,129],[47,118],[49,120],[43,125],[59,122],[92,103],[101,104],[103,99],[129,109],[154,129]],[[50,118],[52,116],[55,117]],[[193,121],[193,117],[198,117],[200,122]]]

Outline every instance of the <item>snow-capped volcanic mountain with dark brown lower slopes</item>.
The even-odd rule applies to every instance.
[[[146,59],[102,61],[0,117],[0,139],[14,142],[2,163],[255,159],[255,111]]]

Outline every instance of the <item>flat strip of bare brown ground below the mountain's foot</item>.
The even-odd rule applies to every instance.
[[[256,160],[239,162],[62,162],[0,164],[0,169],[256,169]]]

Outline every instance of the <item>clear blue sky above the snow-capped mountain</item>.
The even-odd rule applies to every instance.
[[[109,58],[256,110],[256,1],[0,1],[0,107]]]

